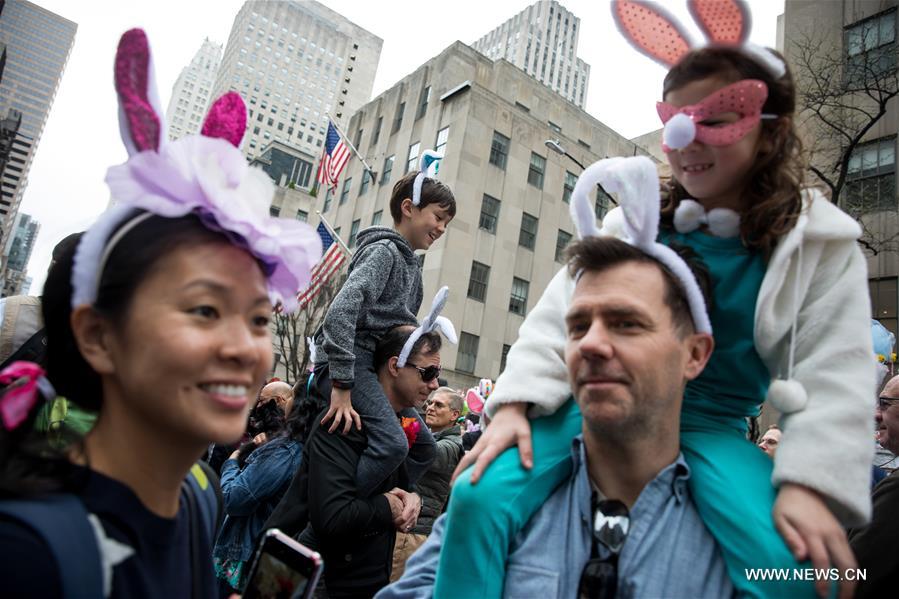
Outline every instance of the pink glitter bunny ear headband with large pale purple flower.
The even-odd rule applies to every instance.
[[[72,271],[72,307],[93,304],[103,268],[116,244],[152,215],[196,214],[265,267],[269,296],[291,311],[321,257],[321,239],[306,225],[269,216],[274,184],[251,168],[238,149],[246,106],[229,92],[209,109],[201,135],[166,143],[157,108],[152,59],[141,29],[125,32],[115,61],[119,125],[129,159],[106,173],[116,206],[82,237]]]

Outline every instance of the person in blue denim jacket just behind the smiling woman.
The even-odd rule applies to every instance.
[[[226,517],[213,557],[220,586],[227,593],[240,592],[246,563],[253,556],[263,524],[278,505],[300,466],[309,408],[301,401],[287,407],[290,414],[286,420],[281,416],[280,430],[268,433],[270,440],[264,439],[266,433],[260,433],[251,443],[235,450],[222,464],[221,485]],[[257,411],[281,412],[283,409],[281,404],[271,401],[258,407]],[[258,416],[267,419],[262,414]],[[247,446],[253,444],[258,447],[244,461]]]

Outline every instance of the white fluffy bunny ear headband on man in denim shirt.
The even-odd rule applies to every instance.
[[[624,241],[649,254],[674,274],[687,294],[693,326],[700,333],[711,334],[712,323],[693,272],[674,250],[656,242],[661,199],[658,171],[652,160],[646,156],[606,158],[584,170],[571,194],[571,220],[577,227],[580,239],[599,235],[596,214],[590,202],[590,194],[597,183],[618,194],[624,217],[621,223]]]

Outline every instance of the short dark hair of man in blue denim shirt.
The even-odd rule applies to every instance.
[[[712,282],[708,268],[691,248],[676,245],[670,247],[683,258],[693,272],[705,300],[706,309],[711,312]],[[693,316],[690,313],[690,304],[687,302],[687,294],[680,281],[667,266],[643,250],[615,237],[587,237],[571,245],[567,255],[568,271],[571,276],[576,276],[581,271],[598,273],[628,262],[657,266],[665,281],[663,300],[671,310],[671,320],[675,329],[681,335],[696,331]]]

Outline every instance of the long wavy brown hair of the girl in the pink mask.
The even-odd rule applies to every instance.
[[[774,50],[768,50],[781,57]],[[781,57],[782,58],[782,57]],[[760,150],[748,173],[744,193],[745,209],[740,215],[740,238],[750,248],[770,257],[778,240],[792,230],[802,210],[801,189],[805,164],[802,141],[796,132],[796,91],[789,68],[776,79],[757,60],[737,48],[708,47],[687,54],[665,76],[663,97],[693,81],[721,77],[731,82],[758,79],[768,86],[768,99],[762,112],[777,115],[762,120]],[[673,177],[670,193],[662,202],[663,224],[671,226],[674,210],[686,190]]]

